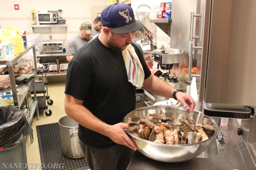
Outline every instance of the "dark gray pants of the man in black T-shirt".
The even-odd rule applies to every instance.
[[[79,138],[78,141],[91,170],[126,170],[134,152],[120,144],[107,148],[93,148]]]

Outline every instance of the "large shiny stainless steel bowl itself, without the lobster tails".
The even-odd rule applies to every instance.
[[[143,119],[149,114],[155,114],[159,116],[165,116],[166,118],[174,118],[173,123],[177,123],[178,116],[180,114],[185,115],[191,120],[196,122],[198,111],[193,111],[192,113],[187,113],[187,108],[175,107],[175,106],[148,106],[138,108],[124,117],[124,123],[127,123],[128,118],[138,117]],[[134,136],[129,130],[125,130],[129,137],[132,138],[134,143],[138,147],[138,151],[148,158],[161,161],[161,162],[183,162],[193,158],[196,158],[204,149],[210,144],[211,140],[215,140],[218,134],[219,127],[214,122],[214,120],[206,115],[203,115],[202,121],[199,123],[210,124],[213,126],[215,133],[209,139],[196,143],[196,144],[184,144],[184,145],[168,145],[168,144],[158,144],[144,140],[140,137]]]

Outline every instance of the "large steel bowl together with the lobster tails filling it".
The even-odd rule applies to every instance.
[[[203,115],[195,125],[198,112],[184,107],[148,106],[124,117],[125,132],[143,155],[162,162],[183,162],[195,158],[218,133],[212,118]]]

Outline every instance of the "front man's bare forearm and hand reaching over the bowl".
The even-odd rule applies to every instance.
[[[150,92],[167,98],[172,98],[174,88],[167,85],[164,81],[151,74],[147,79],[144,80],[143,86],[146,87]],[[183,92],[177,92],[176,98],[181,102],[184,107],[189,106],[188,112],[192,112],[195,108],[195,102],[192,97]]]

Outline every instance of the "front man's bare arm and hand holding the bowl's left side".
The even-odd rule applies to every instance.
[[[133,150],[137,149],[131,138],[124,132],[124,128],[129,128],[127,123],[108,125],[95,117],[82,103],[83,100],[65,94],[64,107],[66,114],[85,128],[105,135],[117,144],[126,145]]]

